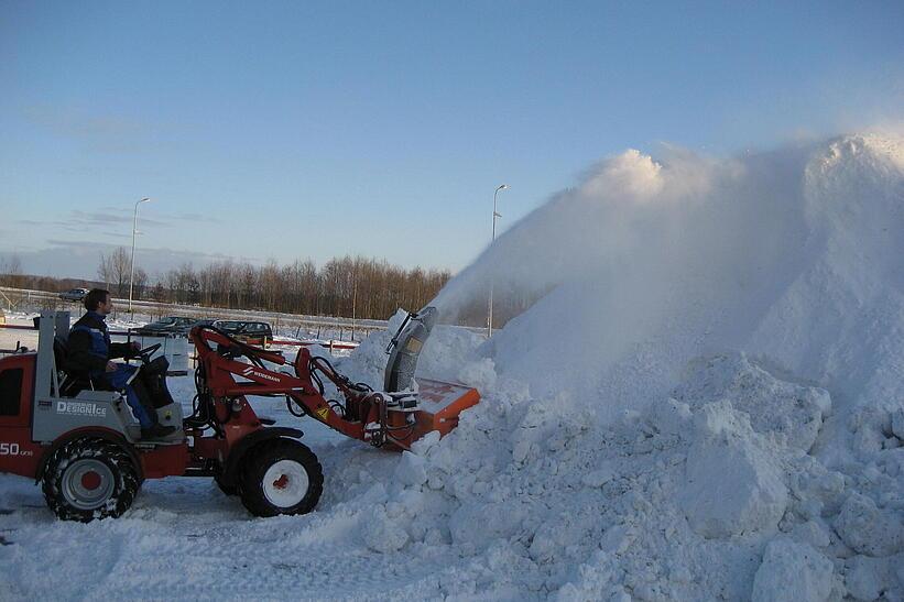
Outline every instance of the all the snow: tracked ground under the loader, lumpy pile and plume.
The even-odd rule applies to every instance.
[[[613,157],[437,299],[547,292],[490,341],[435,330],[420,372],[483,394],[449,437],[307,422],[302,517],[171,479],[73,525],[2,477],[0,598],[902,600],[903,231],[894,135]],[[389,336],[339,369],[379,384]]]

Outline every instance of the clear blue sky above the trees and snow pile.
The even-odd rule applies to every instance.
[[[897,120],[904,2],[0,1],[0,255],[459,270],[599,158]]]

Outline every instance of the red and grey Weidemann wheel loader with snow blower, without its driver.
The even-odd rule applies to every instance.
[[[63,519],[119,516],[145,479],[165,477],[214,478],[257,516],[311,512],[324,482],[317,457],[298,440],[301,430],[259,417],[251,399],[284,397],[293,415],[375,447],[407,449],[428,431],[445,435],[480,397],[455,383],[414,380],[434,320],[427,307],[400,327],[388,348],[383,391],[352,383],[306,348],[290,363],[279,351],[195,327],[194,412],[183,418],[178,402],[160,407],[161,424],[181,428],[142,440],[122,391],[95,388],[59,370],[69,315],[44,313],[37,351],[0,358],[0,472],[41,483]],[[141,361],[152,351],[142,350]]]

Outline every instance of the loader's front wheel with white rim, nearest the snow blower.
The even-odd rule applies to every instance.
[[[255,516],[307,514],[324,491],[324,471],[317,457],[292,439],[254,446],[242,459],[241,469],[239,495]]]

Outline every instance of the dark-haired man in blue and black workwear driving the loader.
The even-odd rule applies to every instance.
[[[127,358],[138,351],[139,343],[110,342],[107,331],[107,316],[113,309],[109,291],[94,288],[85,296],[85,309],[88,311],[79,318],[69,330],[67,368],[72,372],[87,374],[98,388],[126,390],[126,399],[132,414],[141,424],[142,439],[165,437],[176,427],[163,426],[150,396],[137,381],[139,368],[110,360]]]

